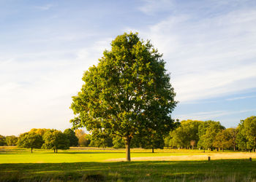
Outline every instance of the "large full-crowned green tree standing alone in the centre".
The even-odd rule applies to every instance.
[[[175,92],[157,50],[137,33],[124,33],[103,52],[97,66],[83,76],[83,87],[73,97],[73,127],[105,130],[125,140],[127,160],[135,135],[146,128],[167,132],[173,124]]]

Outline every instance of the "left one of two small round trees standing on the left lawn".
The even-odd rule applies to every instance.
[[[31,153],[33,153],[33,149],[40,149],[42,143],[44,143],[42,136],[35,132],[25,132],[18,138],[18,147],[30,148]]]

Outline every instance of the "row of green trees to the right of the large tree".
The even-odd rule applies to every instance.
[[[236,128],[225,128],[214,121],[181,121],[175,130],[165,137],[165,146],[173,149],[233,149],[255,151],[256,116],[248,117]]]

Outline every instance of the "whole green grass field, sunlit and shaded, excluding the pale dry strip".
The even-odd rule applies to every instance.
[[[132,157],[178,158],[203,152],[155,151],[132,149]],[[0,181],[256,181],[255,159],[106,162],[124,157],[124,149],[69,149],[58,154],[37,149],[31,154],[29,149],[4,147],[0,148]]]

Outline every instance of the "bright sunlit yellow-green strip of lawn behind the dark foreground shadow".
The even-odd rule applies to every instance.
[[[167,152],[168,151],[168,152]],[[174,150],[172,150],[174,151]],[[182,156],[187,155],[188,150],[180,153],[170,152],[170,150],[151,150],[132,149],[132,157],[162,157],[162,156]],[[202,151],[194,152],[193,155],[203,154]],[[30,149],[0,148],[1,163],[60,163],[60,162],[104,162],[107,159],[124,158],[124,149],[69,149],[59,150],[53,153],[53,150],[34,149],[31,154]]]

